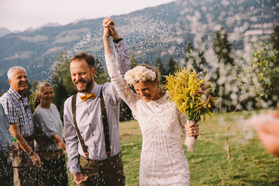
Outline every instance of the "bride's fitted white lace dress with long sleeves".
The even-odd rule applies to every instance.
[[[105,60],[111,82],[141,129],[139,185],[189,185],[190,173],[179,129],[182,128],[186,138],[186,116],[178,114],[167,93],[159,100],[144,102],[119,75],[114,56],[106,55]]]

